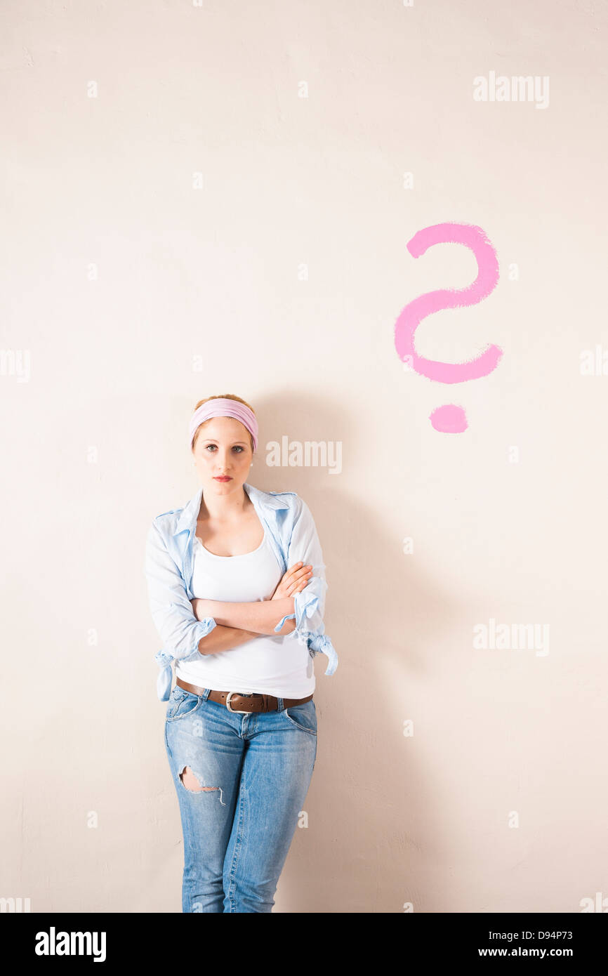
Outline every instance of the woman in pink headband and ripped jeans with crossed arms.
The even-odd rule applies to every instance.
[[[201,400],[189,443],[201,488],[153,520],[145,560],[182,911],[271,912],[316,758],[312,658],[327,654],[326,674],[338,666],[325,566],[304,501],[246,481],[258,444],[249,404]]]

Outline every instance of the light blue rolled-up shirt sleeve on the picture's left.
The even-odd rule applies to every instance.
[[[146,539],[145,576],[152,620],[163,642],[162,649],[154,656],[161,668],[157,693],[161,701],[167,701],[171,692],[171,662],[196,660],[199,641],[217,624],[213,617],[196,619],[182,573],[155,522]]]

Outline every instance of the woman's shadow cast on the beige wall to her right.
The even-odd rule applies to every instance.
[[[296,830],[274,911],[402,912],[407,901],[420,911],[432,902],[425,866],[447,874],[452,860],[442,836],[446,807],[451,829],[458,812],[422,764],[429,751],[408,748],[403,722],[414,719],[420,728],[424,720],[412,712],[408,688],[434,683],[442,663],[429,660],[428,648],[445,642],[459,606],[423,578],[420,559],[403,554],[402,536],[416,537],[407,503],[391,534],[382,510],[343,490],[357,450],[359,434],[348,432],[354,421],[316,395],[304,413],[300,397],[257,402],[256,411],[261,437],[250,480],[264,491],[295,491],[310,508],[328,582],[325,630],[340,659],[329,677],[327,658],[314,659],[318,752],[305,801],[308,826]],[[325,467],[287,467],[287,444],[301,448],[298,460],[312,437],[325,444],[316,451]],[[266,464],[271,442],[285,444],[280,467]],[[331,474],[328,462],[340,457],[341,474]],[[406,483],[402,489],[407,499]],[[450,901],[458,905],[456,891]]]

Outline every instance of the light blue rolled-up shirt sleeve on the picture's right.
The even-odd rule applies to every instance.
[[[308,584],[294,596],[294,613],[287,614],[274,628],[281,630],[286,620],[296,620],[294,635],[301,644],[306,644],[312,657],[322,653],[328,657],[326,674],[333,674],[338,667],[338,654],[332,641],[325,633],[323,617],[325,614],[325,563],[314,519],[303,499],[298,498],[298,510],[294,519],[292,535],[287,555],[288,569],[296,562],[312,567]]]

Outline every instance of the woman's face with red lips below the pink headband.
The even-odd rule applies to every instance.
[[[212,417],[200,428],[192,458],[203,484],[227,495],[247,481],[253,461],[249,430],[234,417]],[[230,480],[218,481],[226,475]]]

